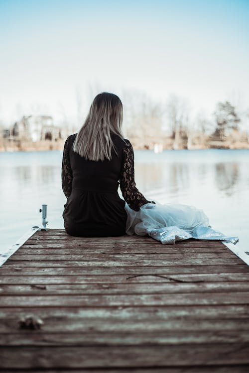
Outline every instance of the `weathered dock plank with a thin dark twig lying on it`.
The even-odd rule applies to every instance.
[[[80,284],[80,283],[172,283],[249,281],[249,273],[172,274],[172,275],[85,275],[85,276],[0,276],[0,284]]]

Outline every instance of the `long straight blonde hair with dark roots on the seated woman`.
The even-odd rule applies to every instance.
[[[91,161],[111,160],[112,149],[117,153],[111,134],[124,139],[122,122],[123,105],[120,98],[108,92],[97,94],[74,140],[74,152]]]

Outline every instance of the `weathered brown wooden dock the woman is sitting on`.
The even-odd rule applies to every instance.
[[[0,267],[0,372],[249,372],[249,266],[220,241],[37,231]]]

